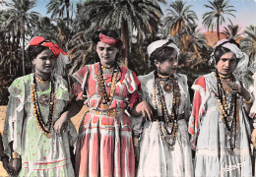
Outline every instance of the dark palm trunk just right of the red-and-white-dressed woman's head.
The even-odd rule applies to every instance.
[[[121,28],[121,40],[123,42],[121,49],[121,63],[123,67],[128,67],[129,34],[127,28],[127,22],[123,21],[123,26]]]

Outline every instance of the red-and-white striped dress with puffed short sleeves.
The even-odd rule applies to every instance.
[[[77,176],[134,176],[135,159],[130,118],[121,110],[133,107],[138,100],[136,75],[123,67],[118,67],[114,95],[109,107],[100,109],[102,98],[97,85],[99,63],[81,68],[73,77],[78,99],[87,95],[85,104],[90,111],[84,115],[76,146]],[[112,72],[103,74],[107,94],[110,93]],[[115,117],[104,112],[119,111]]]

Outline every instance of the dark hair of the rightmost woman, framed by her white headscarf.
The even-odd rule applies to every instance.
[[[233,39],[226,40],[226,41],[224,41],[223,43],[221,43],[220,45],[218,45],[218,46],[216,47],[216,49],[215,49],[215,52],[214,52],[216,65],[218,64],[218,62],[220,61],[220,59],[222,58],[222,56],[223,56],[225,53],[231,52],[230,49],[225,48],[225,47],[223,46],[225,43],[232,43],[232,44],[235,44],[238,48],[240,48],[240,45],[239,45],[238,43],[236,43],[235,40],[233,40]],[[236,62],[236,63],[237,63],[237,62]]]

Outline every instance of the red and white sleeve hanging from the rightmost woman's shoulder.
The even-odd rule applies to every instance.
[[[193,106],[192,106],[192,114],[189,118],[189,127],[188,131],[191,134],[191,148],[196,149],[196,143],[197,138],[199,135],[200,130],[200,121],[202,118],[202,115],[205,113],[204,103],[203,99],[205,97],[206,93],[206,82],[204,77],[198,78],[194,85],[192,86],[192,89],[195,90],[194,93],[194,100],[193,100]]]

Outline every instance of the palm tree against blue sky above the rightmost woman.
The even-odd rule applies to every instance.
[[[225,20],[224,15],[235,17],[232,14],[233,12],[235,12],[235,10],[233,9],[234,8],[233,6],[228,5],[229,0],[214,0],[214,1],[208,0],[208,2],[210,3],[210,5],[205,4],[204,6],[206,8],[211,9],[211,11],[203,14],[203,25],[207,29],[212,29],[212,30],[216,27],[217,33],[218,33],[218,39],[220,40],[220,25],[224,23],[224,20]]]

